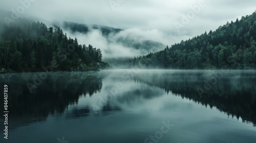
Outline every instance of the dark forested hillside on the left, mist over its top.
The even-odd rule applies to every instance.
[[[110,67],[102,62],[100,49],[78,44],[61,29],[48,28],[44,23],[19,19],[0,21],[0,69],[5,71],[98,70]]]

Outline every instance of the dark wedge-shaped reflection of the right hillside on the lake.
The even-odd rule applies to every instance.
[[[212,77],[222,75],[215,85],[200,96],[199,88]],[[151,77],[151,78],[148,78]],[[159,87],[167,93],[192,100],[203,106],[218,108],[228,117],[242,118],[243,122],[256,124],[256,73],[252,70],[170,70],[136,74],[135,81]]]

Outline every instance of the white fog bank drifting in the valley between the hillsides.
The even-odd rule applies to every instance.
[[[134,56],[145,55],[150,52],[157,52],[163,50],[166,47],[168,38],[166,35],[159,30],[141,30],[139,28],[131,28],[123,30],[117,34],[110,34],[108,36],[103,36],[100,30],[90,29],[87,34],[80,32],[71,32],[70,30],[64,30],[67,35],[72,38],[77,38],[79,44],[89,44],[94,47],[100,48],[102,50],[103,59],[106,58],[133,58]],[[155,38],[157,36],[157,38]],[[124,45],[124,43],[118,41],[120,38],[127,39],[130,41],[136,41],[138,43],[143,43],[143,41],[151,40],[163,43],[161,46],[148,48],[148,49],[135,49],[131,46]],[[127,44],[130,44],[127,42]],[[131,43],[132,44],[132,43]]]

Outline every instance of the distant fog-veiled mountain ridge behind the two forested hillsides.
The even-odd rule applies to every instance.
[[[109,44],[119,44],[120,46],[127,47],[131,50],[138,50],[140,54],[147,54],[150,52],[157,52],[164,47],[162,43],[152,40],[139,40],[134,37],[134,33],[125,33],[125,30],[115,29],[108,26],[100,25],[86,25],[75,22],[54,23],[54,27],[61,27],[63,30],[70,31],[71,33],[81,33],[84,35],[98,30],[101,35],[108,41]]]

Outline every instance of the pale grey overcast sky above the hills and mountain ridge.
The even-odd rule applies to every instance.
[[[156,38],[156,41],[163,44],[173,44],[205,31],[216,30],[227,21],[240,19],[241,16],[250,15],[256,10],[255,0],[33,1],[35,2],[31,2],[25,12],[20,14],[21,16],[39,18],[45,23],[65,20],[124,30],[135,29],[137,32],[145,33],[144,35],[150,39]],[[20,1],[0,0],[0,2],[0,8],[9,11],[17,10],[22,6]],[[200,10],[197,9],[195,13],[191,11],[191,7],[200,7]],[[182,22],[182,15],[187,14],[189,21]],[[177,26],[182,27],[178,30]]]

